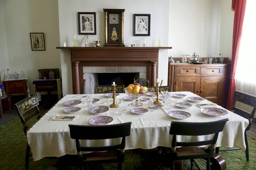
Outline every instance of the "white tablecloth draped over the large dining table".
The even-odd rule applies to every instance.
[[[172,92],[186,94],[187,96],[197,96],[191,92]],[[88,108],[84,107],[84,104],[81,103],[78,107],[81,108],[81,111],[73,114],[67,114],[63,112],[64,108],[67,108],[63,104],[64,101],[71,99],[81,99],[81,97],[73,97],[76,95],[67,95],[64,96],[48,113],[46,113],[27,133],[27,139],[29,142],[29,146],[32,150],[32,155],[34,161],[42,159],[47,156],[64,156],[66,154],[77,154],[76,153],[76,142],[74,139],[70,139],[69,133],[69,124],[76,125],[90,125],[88,120],[97,116],[88,112]],[[92,98],[99,98],[100,101],[107,100],[108,106],[113,102],[112,98],[108,98],[103,96],[103,94],[89,94]],[[103,96],[103,98],[102,98]],[[116,99],[123,99],[126,94],[120,94]],[[155,100],[154,97],[147,96]],[[102,98],[102,99],[101,99]],[[189,102],[185,98],[176,99],[180,102],[188,102],[193,106],[187,109],[180,109],[176,106],[173,106],[172,109],[154,109],[154,111],[148,111],[145,114],[133,114],[130,112],[132,108],[129,106],[131,101],[125,101],[123,104],[119,104],[119,108],[109,108],[109,111],[103,113],[102,115],[112,116],[113,122],[110,124],[117,124],[123,122],[132,122],[131,125],[131,135],[126,138],[125,149],[151,149],[157,146],[163,147],[171,147],[172,136],[169,135],[169,128],[171,125],[171,121],[181,121],[181,122],[212,122],[224,118],[228,118],[229,121],[226,123],[223,132],[219,133],[218,141],[216,143],[216,147],[225,146],[225,147],[233,147],[237,146],[241,149],[245,149],[244,143],[244,130],[249,124],[247,119],[244,119],[241,116],[236,115],[233,112],[228,111],[228,114],[225,116],[212,117],[207,116],[204,113],[201,113],[200,108],[196,106],[196,104],[204,104],[210,103],[207,100],[202,102]],[[141,106],[143,108],[148,108],[147,102],[143,102],[144,105]],[[99,103],[95,103],[93,105],[98,105]],[[175,102],[173,102],[173,105]],[[127,110],[122,116],[116,114],[116,111],[121,110],[121,108],[126,107]],[[218,107],[209,106],[209,107]],[[173,119],[168,116],[167,112],[172,110],[183,110],[188,111],[192,114],[191,117],[183,120]],[[52,117],[56,114],[61,116],[70,116],[76,115],[76,118],[73,121],[51,121]],[[178,141],[191,141],[191,140],[202,140],[209,139],[211,136],[194,136],[194,137],[177,137]],[[82,141],[81,144],[84,145],[93,145],[97,146],[100,144],[113,144],[118,142],[119,139],[115,140],[101,140],[101,141]]]

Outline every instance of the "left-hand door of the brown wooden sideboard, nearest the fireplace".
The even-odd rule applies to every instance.
[[[190,91],[199,95],[200,77],[199,76],[178,76],[176,77],[175,91]]]

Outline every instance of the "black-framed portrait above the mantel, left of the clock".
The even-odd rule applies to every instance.
[[[96,12],[78,12],[79,35],[96,35]]]

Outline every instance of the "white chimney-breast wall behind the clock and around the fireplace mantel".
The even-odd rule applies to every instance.
[[[148,4],[148,5],[146,5]],[[124,43],[130,46],[140,44],[141,37],[133,36],[133,14],[151,14],[151,36],[147,37],[146,46],[157,46],[158,37],[161,38],[161,45],[168,46],[169,37],[169,0],[97,0],[91,1],[88,5],[84,0],[59,0],[59,28],[60,41],[67,42],[73,46],[73,36],[76,34],[77,44],[80,46],[82,37],[78,35],[77,12],[96,12],[97,35],[90,35],[89,46],[93,46],[93,40],[100,40],[101,45],[105,41],[105,22],[103,8],[125,9],[124,13]],[[63,94],[72,94],[72,77],[70,51],[61,50],[61,70],[63,81]],[[159,52],[159,73],[158,78],[163,79],[163,85],[167,85],[168,74],[168,50]]]

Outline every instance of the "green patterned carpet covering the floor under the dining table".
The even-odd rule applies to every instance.
[[[36,121],[33,119],[32,121]],[[30,122],[30,124],[33,122]],[[242,150],[220,152],[220,156],[227,163],[227,170],[256,170],[256,139],[248,136],[250,162],[245,159]],[[24,135],[20,118],[0,126],[0,170],[25,170],[26,136]],[[158,168],[156,150],[126,150],[124,170],[154,170]],[[64,156],[62,158],[44,158],[39,161],[29,161],[30,170],[78,170],[75,166],[75,156]],[[68,163],[67,163],[68,162]],[[197,161],[202,170],[206,169],[206,164],[202,160]],[[183,161],[184,170],[190,167],[189,160]],[[88,167],[87,169],[100,169],[99,167]],[[104,170],[114,170],[117,164],[104,164]],[[197,168],[194,166],[195,170]],[[166,170],[169,170],[166,167]]]

